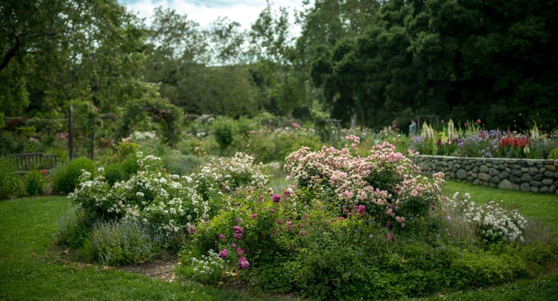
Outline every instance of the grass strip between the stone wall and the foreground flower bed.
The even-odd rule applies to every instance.
[[[455,191],[469,193],[471,200],[477,203],[502,200],[505,207],[517,208],[526,219],[541,221],[554,235],[558,235],[558,196],[554,193],[501,190],[453,181],[446,181],[442,191],[449,197]]]

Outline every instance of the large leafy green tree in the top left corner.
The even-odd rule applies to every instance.
[[[141,94],[142,23],[116,0],[8,1],[0,9],[4,113],[30,103],[60,111],[71,99],[111,110]]]

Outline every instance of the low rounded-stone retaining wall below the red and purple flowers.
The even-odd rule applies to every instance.
[[[444,172],[446,179],[459,182],[558,195],[558,160],[427,155],[416,156],[413,160],[424,174]]]

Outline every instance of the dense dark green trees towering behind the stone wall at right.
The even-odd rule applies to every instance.
[[[552,126],[555,4],[391,0],[355,40],[317,48],[312,78],[343,101],[334,116],[354,105],[372,127],[419,114],[511,127],[519,113]]]

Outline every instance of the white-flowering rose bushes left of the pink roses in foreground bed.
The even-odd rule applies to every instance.
[[[221,188],[230,191],[234,187],[261,186],[267,182],[267,176],[259,171],[260,166],[253,164],[251,156],[242,153],[213,160],[199,175],[191,177],[158,171],[161,161],[158,157],[144,157],[141,152],[137,156],[142,170],[128,181],[110,186],[103,176],[92,179],[92,174],[84,171],[79,187],[68,198],[78,208],[104,220],[138,219],[171,235],[181,229],[188,230],[196,222],[204,222],[211,207],[218,206],[218,197],[210,204],[196,188],[201,188],[203,193],[219,192]]]

